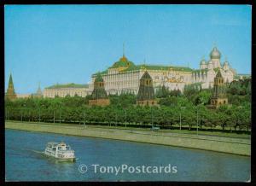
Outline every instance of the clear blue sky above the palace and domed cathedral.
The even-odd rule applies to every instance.
[[[199,68],[214,46],[251,73],[250,5],[5,5],[5,90],[88,84],[123,55],[135,64]]]

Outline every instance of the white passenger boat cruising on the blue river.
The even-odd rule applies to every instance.
[[[58,160],[75,160],[74,151],[65,142],[48,142],[44,154]]]

